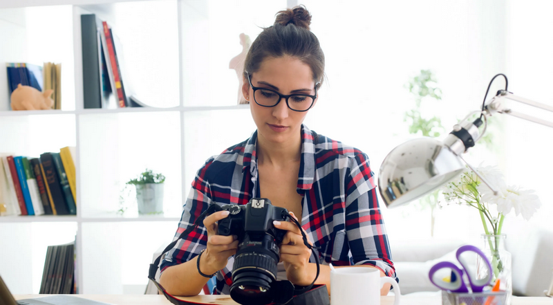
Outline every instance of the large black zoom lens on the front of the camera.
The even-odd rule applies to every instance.
[[[269,304],[270,287],[277,280],[279,248],[268,233],[245,234],[234,255],[230,295],[244,305]]]

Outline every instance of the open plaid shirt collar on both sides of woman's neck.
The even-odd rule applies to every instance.
[[[244,148],[243,168],[242,171],[249,168],[252,176],[257,176],[257,131],[252,133],[250,139],[247,140]],[[313,133],[301,124],[301,161],[298,172],[297,188],[299,190],[310,190],[315,181],[315,141]]]

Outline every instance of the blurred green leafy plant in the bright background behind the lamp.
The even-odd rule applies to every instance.
[[[415,98],[415,108],[406,111],[404,122],[409,123],[409,133],[422,133],[422,136],[438,137],[444,133],[445,129],[442,126],[442,120],[437,116],[425,118],[421,112],[421,104],[423,100],[433,99],[442,100],[442,90],[438,88],[438,81],[435,75],[430,70],[421,70],[419,75],[411,77],[405,85],[406,89]],[[431,236],[434,234],[434,210],[438,207],[439,192],[433,192],[420,199],[419,204],[421,210],[429,207],[431,213]]]

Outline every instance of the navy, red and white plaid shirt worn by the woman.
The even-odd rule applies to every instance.
[[[301,139],[297,183],[297,192],[303,196],[301,223],[309,239],[320,248],[321,264],[371,265],[397,281],[366,154],[310,131],[305,125]],[[257,131],[245,142],[209,158],[198,170],[175,239],[194,225],[208,205],[244,205],[260,196],[256,140]],[[167,253],[161,270],[193,259],[206,244],[207,230],[198,225]],[[313,255],[310,261],[315,262]],[[229,294],[233,263],[234,257],[230,257],[227,266],[217,272],[214,293]]]

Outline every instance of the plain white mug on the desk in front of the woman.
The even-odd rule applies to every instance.
[[[391,277],[380,277],[380,270],[344,267],[330,270],[330,305],[379,305],[380,289],[390,283],[394,305],[400,304],[400,285]]]

